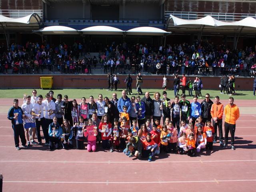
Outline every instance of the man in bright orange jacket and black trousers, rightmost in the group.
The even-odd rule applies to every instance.
[[[230,97],[228,99],[228,105],[225,106],[225,123],[224,123],[224,131],[225,131],[225,144],[223,147],[228,147],[228,132],[230,132],[231,136],[231,149],[235,150],[234,140],[235,140],[235,131],[236,131],[236,120],[239,118],[239,108],[234,104],[234,98]]]

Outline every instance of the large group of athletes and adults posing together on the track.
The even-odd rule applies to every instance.
[[[24,96],[21,107],[18,99],[14,99],[8,119],[12,122],[17,150],[20,150],[19,137],[24,148],[42,145],[41,128],[44,144],[50,150],[74,146],[84,149],[86,140],[89,152],[102,146],[110,152],[123,150],[129,157],[147,157],[149,161],[159,152],[196,156],[202,149],[212,150],[212,145],[217,142],[217,128],[220,146],[228,146],[230,132],[231,148],[235,149],[239,108],[234,104],[234,98],[230,97],[224,107],[219,96],[214,98],[214,103],[209,94],[201,103],[194,96],[190,103],[185,94],[181,95],[181,100],[175,96],[173,101],[167,97],[166,91],[162,94],[162,98],[159,92],[154,93],[153,99],[149,92],[143,98],[139,95],[128,98],[123,90],[119,99],[116,93],[111,99],[99,94],[96,102],[90,96],[89,102],[83,97],[78,104],[76,99],[69,101],[67,95],[64,100],[61,94],[55,99],[53,91],[43,100],[43,96],[37,96],[37,91],[33,90],[32,96]],[[224,143],[223,114],[226,115]]]

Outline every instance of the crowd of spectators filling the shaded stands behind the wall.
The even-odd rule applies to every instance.
[[[95,45],[95,44],[94,44]],[[96,45],[95,45],[96,46]],[[255,48],[231,50],[224,44],[199,42],[194,44],[167,44],[152,46],[143,43],[116,43],[98,50],[91,56],[86,44],[64,42],[58,46],[27,42],[25,45],[11,44],[9,49],[0,46],[0,72],[12,74],[39,74],[44,69],[52,73],[84,74],[93,68],[102,72],[138,74],[187,74],[187,75],[235,75],[256,74]]]

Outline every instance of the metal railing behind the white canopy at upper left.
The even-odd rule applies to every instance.
[[[20,18],[28,16],[32,13],[36,13],[39,15],[40,18],[43,18],[43,10],[42,9],[36,9],[36,10],[14,10],[14,9],[1,9],[0,15],[10,17],[10,18]]]

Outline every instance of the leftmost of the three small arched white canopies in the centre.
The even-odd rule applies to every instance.
[[[66,27],[66,26],[49,26],[42,28],[40,30],[34,31],[35,33],[42,33],[45,35],[50,35],[50,34],[78,34],[77,30]]]

